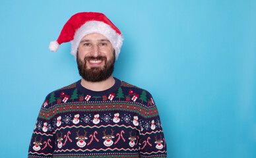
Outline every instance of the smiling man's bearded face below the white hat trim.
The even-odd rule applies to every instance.
[[[77,52],[77,66],[84,80],[106,80],[112,75],[114,64],[114,49],[105,36],[94,33],[81,39]]]

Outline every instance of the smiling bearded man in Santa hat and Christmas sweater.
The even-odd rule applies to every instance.
[[[102,13],[77,13],[49,49],[71,40],[82,78],[46,97],[28,157],[166,157],[152,95],[112,76],[118,28]]]

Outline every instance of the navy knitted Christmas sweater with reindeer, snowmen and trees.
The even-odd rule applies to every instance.
[[[49,93],[28,157],[166,157],[166,140],[152,95],[115,78],[94,92],[80,80]]]

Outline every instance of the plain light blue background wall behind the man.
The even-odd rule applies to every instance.
[[[114,76],[154,96],[168,157],[256,156],[256,1],[1,1],[1,157],[26,157],[46,95],[79,80],[63,43],[75,13],[123,34]]]

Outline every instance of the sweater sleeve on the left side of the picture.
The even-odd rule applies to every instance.
[[[49,96],[49,95],[48,95]],[[54,151],[53,120],[50,118],[49,97],[46,97],[36,120],[30,140],[28,157],[52,157]]]

